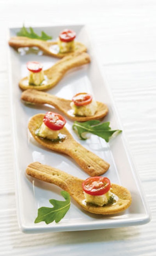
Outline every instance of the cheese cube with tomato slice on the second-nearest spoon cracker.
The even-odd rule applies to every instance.
[[[36,134],[41,138],[46,138],[51,141],[62,140],[64,136],[60,137],[59,133],[62,131],[65,124],[66,120],[63,116],[49,111],[44,116],[43,122]]]

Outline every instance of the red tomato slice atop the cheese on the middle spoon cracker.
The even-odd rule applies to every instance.
[[[92,95],[89,93],[77,93],[72,98],[72,101],[76,106],[88,105],[92,102]]]

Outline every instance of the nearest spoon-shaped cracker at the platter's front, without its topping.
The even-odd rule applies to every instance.
[[[28,165],[26,172],[28,175],[53,183],[63,190],[66,190],[73,199],[82,206],[83,209],[90,213],[96,214],[115,214],[126,210],[131,204],[130,192],[117,184],[111,184],[111,192],[117,196],[117,201],[112,205],[94,206],[85,203],[85,197],[82,189],[82,179],[74,177],[73,175],[62,172],[56,168],[48,165],[43,165],[39,162]]]

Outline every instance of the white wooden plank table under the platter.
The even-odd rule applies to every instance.
[[[0,0],[0,255],[156,255],[156,1]],[[143,226],[45,234],[18,227],[10,126],[9,27],[87,24],[151,209]]]

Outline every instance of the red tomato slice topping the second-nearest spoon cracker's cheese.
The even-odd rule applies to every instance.
[[[50,111],[44,116],[43,122],[48,128],[54,131],[62,129],[66,124],[66,120],[63,116]]]

